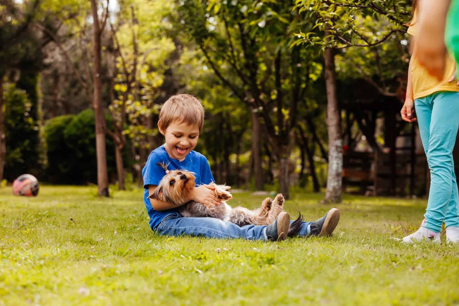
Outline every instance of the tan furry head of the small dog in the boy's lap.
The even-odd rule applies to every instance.
[[[161,166],[163,168],[163,166]],[[188,170],[168,170],[155,192],[148,198],[182,205],[190,191],[196,186],[196,177]]]

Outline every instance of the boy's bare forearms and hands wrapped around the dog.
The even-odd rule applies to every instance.
[[[152,195],[155,192],[156,185],[148,185],[148,195]],[[195,187],[188,196],[187,199],[184,199],[184,204],[190,201],[196,201],[205,205],[219,205],[220,200],[215,197],[215,192],[213,191],[215,186],[204,185]],[[156,211],[162,211],[166,209],[177,208],[177,205],[171,204],[169,202],[163,202],[156,199],[150,199],[151,207]]]

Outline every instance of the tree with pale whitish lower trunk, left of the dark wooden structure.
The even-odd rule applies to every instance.
[[[352,46],[370,47],[381,44],[393,33],[406,29],[403,16],[408,16],[406,1],[371,0],[297,0],[299,12],[305,19],[315,19],[315,31],[297,33],[292,46],[319,45],[324,50],[325,82],[327,87],[327,125],[329,167],[325,202],[341,201],[342,138],[341,114],[336,95],[335,52]],[[376,22],[367,22],[375,19]],[[405,20],[406,21],[406,20]],[[378,24],[381,31],[374,34],[371,27]]]

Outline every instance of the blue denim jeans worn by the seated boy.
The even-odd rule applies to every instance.
[[[290,221],[290,223],[293,221]],[[302,222],[299,236],[309,234],[310,222]],[[216,218],[184,218],[180,213],[168,214],[156,227],[160,235],[181,236],[181,235],[202,235],[208,238],[235,239],[242,238],[248,240],[267,240],[265,230],[267,225],[238,225],[222,221]]]

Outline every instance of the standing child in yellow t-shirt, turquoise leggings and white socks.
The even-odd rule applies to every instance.
[[[408,33],[416,37],[417,1]],[[447,242],[459,241],[459,192],[454,174],[453,148],[459,127],[459,84],[453,82],[455,62],[447,57],[442,81],[420,66],[414,50],[409,62],[408,85],[402,119],[418,121],[419,131],[431,171],[431,186],[424,220],[419,230],[403,238],[405,243],[440,243],[442,224]],[[448,80],[449,79],[449,80]],[[415,109],[415,114],[414,114]]]

